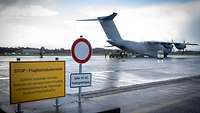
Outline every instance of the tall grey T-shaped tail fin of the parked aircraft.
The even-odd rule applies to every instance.
[[[97,17],[97,19],[85,19],[85,20],[78,20],[78,21],[99,21],[109,40],[120,41],[122,40],[122,38],[113,21],[116,15],[117,13],[113,13],[109,16]]]

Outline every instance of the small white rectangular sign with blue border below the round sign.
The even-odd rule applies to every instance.
[[[71,73],[70,88],[90,87],[92,81],[92,73]]]

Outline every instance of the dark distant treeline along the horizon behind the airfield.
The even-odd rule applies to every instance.
[[[116,49],[104,49],[104,48],[94,48],[94,55],[105,55],[110,52],[118,52]],[[69,49],[47,49],[44,47],[41,48],[30,48],[30,47],[0,47],[0,55],[23,55],[23,56],[31,56],[31,55],[40,55],[40,53],[44,53],[44,55],[70,55]],[[171,55],[200,55],[200,51],[175,51],[172,52]]]

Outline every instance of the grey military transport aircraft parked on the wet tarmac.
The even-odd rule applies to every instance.
[[[172,52],[173,47],[175,46],[178,50],[183,50],[186,48],[186,45],[198,45],[191,43],[176,43],[176,42],[162,42],[162,41],[144,41],[144,42],[135,42],[123,40],[115,26],[113,19],[117,13],[113,13],[109,16],[97,17],[96,19],[84,19],[78,21],[99,21],[108,40],[112,46],[116,46],[125,51],[131,51],[142,56],[149,56],[154,58],[164,58]]]

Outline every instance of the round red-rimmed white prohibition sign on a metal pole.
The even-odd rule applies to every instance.
[[[80,38],[75,40],[72,44],[71,54],[72,58],[76,62],[80,64],[86,63],[92,55],[92,47],[90,42],[80,36]]]

